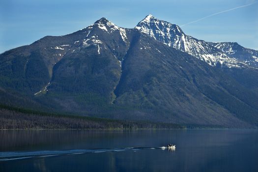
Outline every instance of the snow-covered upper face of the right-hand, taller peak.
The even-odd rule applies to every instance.
[[[244,62],[227,56],[208,42],[185,34],[179,26],[159,20],[152,15],[146,16],[135,29],[170,47],[197,57],[211,66],[216,66],[218,63],[229,68],[247,66]]]

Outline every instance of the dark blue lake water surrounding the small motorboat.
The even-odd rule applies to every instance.
[[[0,131],[0,172],[13,171],[258,172],[258,130]]]

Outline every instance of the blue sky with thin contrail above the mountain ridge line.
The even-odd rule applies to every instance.
[[[134,28],[148,14],[201,40],[258,50],[258,0],[0,0],[0,53],[102,17]]]

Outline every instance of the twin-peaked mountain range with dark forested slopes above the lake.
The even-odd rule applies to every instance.
[[[101,18],[0,55],[0,104],[47,112],[222,127],[258,126],[258,51],[205,42],[146,16]]]

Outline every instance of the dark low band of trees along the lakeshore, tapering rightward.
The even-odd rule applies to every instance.
[[[126,121],[74,115],[34,112],[0,106],[0,129],[172,129],[172,123]]]

